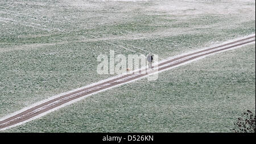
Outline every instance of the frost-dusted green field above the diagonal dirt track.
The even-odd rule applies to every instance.
[[[110,49],[133,53],[118,45],[166,58],[255,33],[253,1],[31,0],[0,4],[0,117],[110,77],[96,74],[96,57]],[[163,5],[182,9],[155,9]],[[215,11],[218,5],[230,12]]]

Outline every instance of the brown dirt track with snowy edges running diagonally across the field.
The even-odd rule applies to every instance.
[[[186,54],[184,56],[176,57],[171,60],[158,63],[157,66],[154,66],[154,69],[150,69],[150,70],[142,69],[142,70],[139,70],[139,73],[130,73],[130,74],[121,75],[120,77],[110,79],[109,81],[101,82],[94,86],[86,87],[81,90],[77,90],[69,94],[62,95],[58,98],[46,101],[42,104],[36,105],[35,107],[29,108],[26,111],[20,112],[14,116],[8,117],[5,120],[0,121],[0,130],[9,128],[11,126],[19,125],[21,124],[21,122],[28,121],[31,118],[34,118],[35,116],[49,112],[53,108],[60,107],[61,105],[66,104],[69,101],[76,100],[83,96],[93,94],[101,90],[106,90],[107,88],[121,85],[158,71],[166,70],[170,67],[174,67],[174,66],[183,64],[185,62],[195,60],[196,58],[204,57],[209,54],[231,49],[236,46],[253,43],[254,41],[255,41],[255,35],[246,37],[244,39],[232,41],[224,45],[214,46],[213,48],[200,50],[194,53]],[[141,73],[143,71],[146,73]]]

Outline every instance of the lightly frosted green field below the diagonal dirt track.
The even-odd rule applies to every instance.
[[[255,113],[255,44],[113,88],[6,132],[230,132]]]

